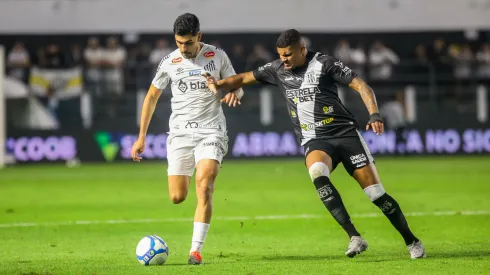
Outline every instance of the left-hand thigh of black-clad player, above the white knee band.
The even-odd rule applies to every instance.
[[[329,171],[339,163],[336,148],[329,140],[311,140],[305,144],[305,164],[308,169],[316,162],[323,162]]]

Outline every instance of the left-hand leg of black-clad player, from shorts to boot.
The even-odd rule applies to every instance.
[[[354,257],[367,249],[367,243],[356,230],[342,197],[330,181],[330,172],[338,164],[335,148],[326,141],[311,141],[305,145],[305,148],[306,166],[318,196],[333,218],[349,235],[351,242],[345,254]]]

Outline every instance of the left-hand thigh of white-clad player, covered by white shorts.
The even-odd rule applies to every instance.
[[[196,143],[191,135],[170,134],[167,138],[168,176],[192,177]]]

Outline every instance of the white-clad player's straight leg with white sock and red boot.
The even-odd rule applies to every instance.
[[[206,240],[213,212],[214,182],[227,149],[227,138],[215,135],[203,138],[196,147],[197,206],[189,264],[202,263],[201,250]]]

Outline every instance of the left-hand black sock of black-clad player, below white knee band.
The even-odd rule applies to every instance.
[[[321,176],[316,178],[313,183],[315,184],[316,191],[318,192],[323,204],[325,207],[327,207],[334,219],[342,226],[345,232],[347,232],[349,238],[352,236],[361,236],[361,234],[359,234],[354,227],[354,224],[352,224],[349,213],[347,213],[344,203],[342,202],[342,198],[340,197],[337,189],[335,189],[333,184],[330,182],[330,179],[328,177]]]

